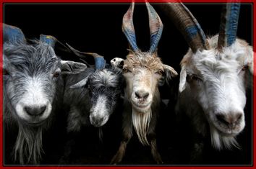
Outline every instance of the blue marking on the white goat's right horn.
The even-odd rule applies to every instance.
[[[236,40],[236,31],[240,12],[240,4],[227,5],[226,42],[230,46]]]

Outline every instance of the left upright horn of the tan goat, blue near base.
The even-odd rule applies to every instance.
[[[139,48],[137,47],[135,27],[132,21],[134,9],[135,9],[135,3],[132,3],[131,6],[129,6],[127,13],[124,14],[123,24],[121,28],[122,28],[122,31],[124,32],[124,35],[127,37],[127,40],[129,41],[129,45],[132,47],[132,50],[136,52],[137,50],[139,50]]]

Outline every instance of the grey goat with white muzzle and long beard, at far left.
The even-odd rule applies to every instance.
[[[60,75],[87,68],[58,58],[55,42],[54,37],[41,35],[30,45],[21,29],[4,24],[4,125],[18,129],[14,160],[20,164],[40,163],[43,132],[61,106]]]

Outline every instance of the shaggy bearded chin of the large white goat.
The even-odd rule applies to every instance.
[[[232,147],[240,148],[238,142],[236,142],[235,136],[226,136],[226,135],[220,134],[218,130],[213,126],[210,126],[210,135],[211,135],[212,145],[217,150],[222,150],[223,147],[229,150]]]

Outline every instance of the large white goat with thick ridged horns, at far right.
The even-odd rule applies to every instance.
[[[253,53],[247,42],[236,38],[240,4],[223,6],[219,34],[209,38],[184,4],[166,4],[161,9],[190,47],[181,61],[177,113],[191,119],[195,135],[210,134],[216,150],[239,147],[236,136],[245,126]],[[201,151],[204,144],[201,140],[195,147]]]

